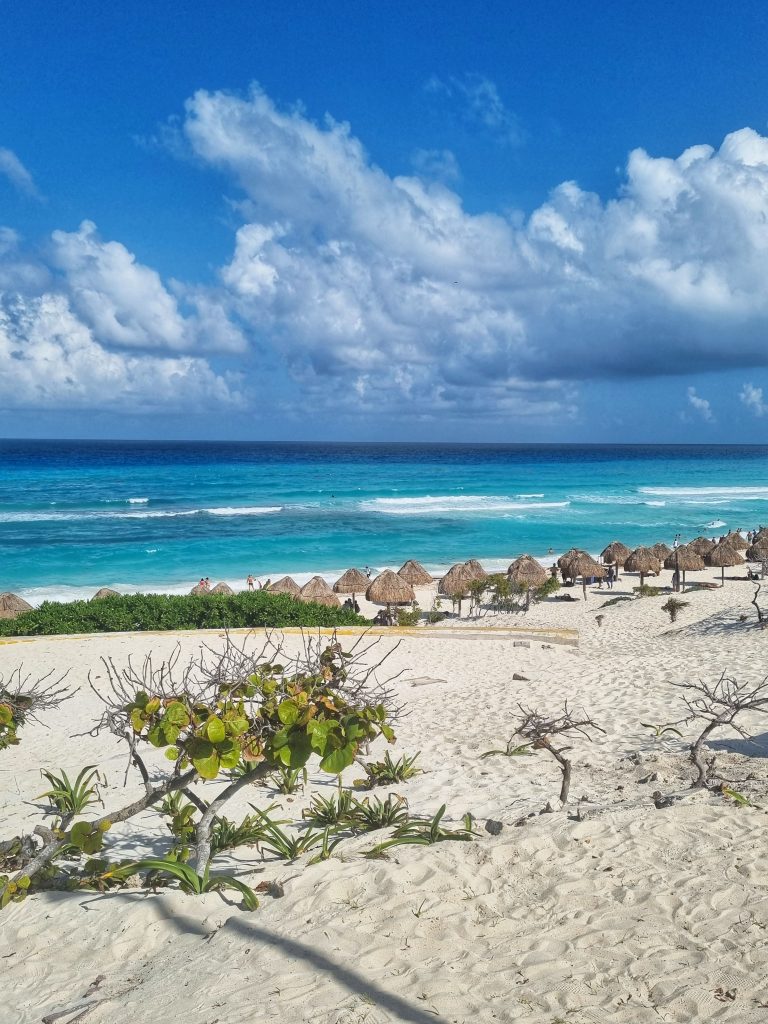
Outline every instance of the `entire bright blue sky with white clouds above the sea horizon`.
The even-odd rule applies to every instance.
[[[768,439],[764,4],[0,12],[2,434]]]

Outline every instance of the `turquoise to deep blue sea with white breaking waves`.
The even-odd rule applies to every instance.
[[[0,441],[0,591],[506,566],[768,522],[768,446]]]

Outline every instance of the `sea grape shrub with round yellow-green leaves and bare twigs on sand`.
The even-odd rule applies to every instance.
[[[371,657],[378,642],[364,636],[345,651],[335,636],[305,636],[299,653],[286,658],[272,635],[256,650],[251,649],[252,639],[236,643],[226,635],[223,650],[204,645],[186,665],[180,663],[178,648],[160,665],[152,655],[140,665],[129,658],[120,669],[111,659],[103,660],[103,673],[88,679],[103,708],[90,734],[109,730],[126,742],[129,767],[138,771],[143,796],[94,820],[73,822],[92,801],[94,776],[88,773],[94,769],[84,769],[74,785],[63,776],[51,775],[47,796],[66,801],[72,813],[52,829],[36,830],[42,846],[25,858],[17,873],[0,887],[0,894],[10,893],[13,884],[16,898],[23,878],[34,882],[68,851],[88,855],[100,851],[113,824],[164,801],[176,840],[169,859],[183,865],[188,856],[189,868],[199,879],[206,878],[216,848],[229,845],[232,828],[241,839],[247,834],[246,842],[271,845],[291,859],[317,843],[328,850],[328,836],[324,841],[322,834],[311,838],[304,834],[296,841],[290,837],[285,851],[279,851],[282,837],[269,828],[263,812],[258,819],[232,826],[222,809],[241,788],[263,782],[276,771],[302,772],[310,759],[316,759],[321,770],[338,775],[372,740],[379,736],[394,740],[392,723],[399,708],[391,679],[380,682],[377,676],[388,654],[378,662]],[[16,687],[13,695],[18,692]],[[61,691],[55,686],[43,690],[43,701],[46,697],[60,699]],[[5,735],[9,735],[7,723]],[[160,778],[151,776],[142,746],[165,754],[168,769]],[[206,802],[199,787],[214,779],[226,784]],[[180,794],[201,812],[197,822]]]

